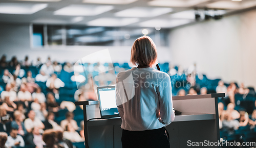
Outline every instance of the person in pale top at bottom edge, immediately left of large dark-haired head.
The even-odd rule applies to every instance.
[[[26,136],[26,144],[36,146],[36,148],[43,148],[45,142],[42,140],[42,135],[37,127],[32,128],[31,133]]]

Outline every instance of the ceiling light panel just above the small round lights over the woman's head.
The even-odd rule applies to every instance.
[[[151,19],[144,22],[139,23],[140,27],[161,27],[161,28],[173,28],[177,26],[181,26],[186,23],[193,22],[191,19]]]

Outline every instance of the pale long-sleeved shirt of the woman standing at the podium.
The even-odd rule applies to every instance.
[[[124,130],[160,129],[175,118],[170,77],[154,68],[119,72],[116,103]]]

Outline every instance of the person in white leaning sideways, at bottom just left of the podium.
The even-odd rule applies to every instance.
[[[69,139],[72,142],[81,142],[83,139],[81,136],[75,131],[71,123],[66,125],[65,131],[63,132],[63,137]]]

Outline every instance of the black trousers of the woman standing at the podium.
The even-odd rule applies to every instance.
[[[123,148],[169,148],[168,132],[165,128],[146,131],[127,131],[122,132]]]

